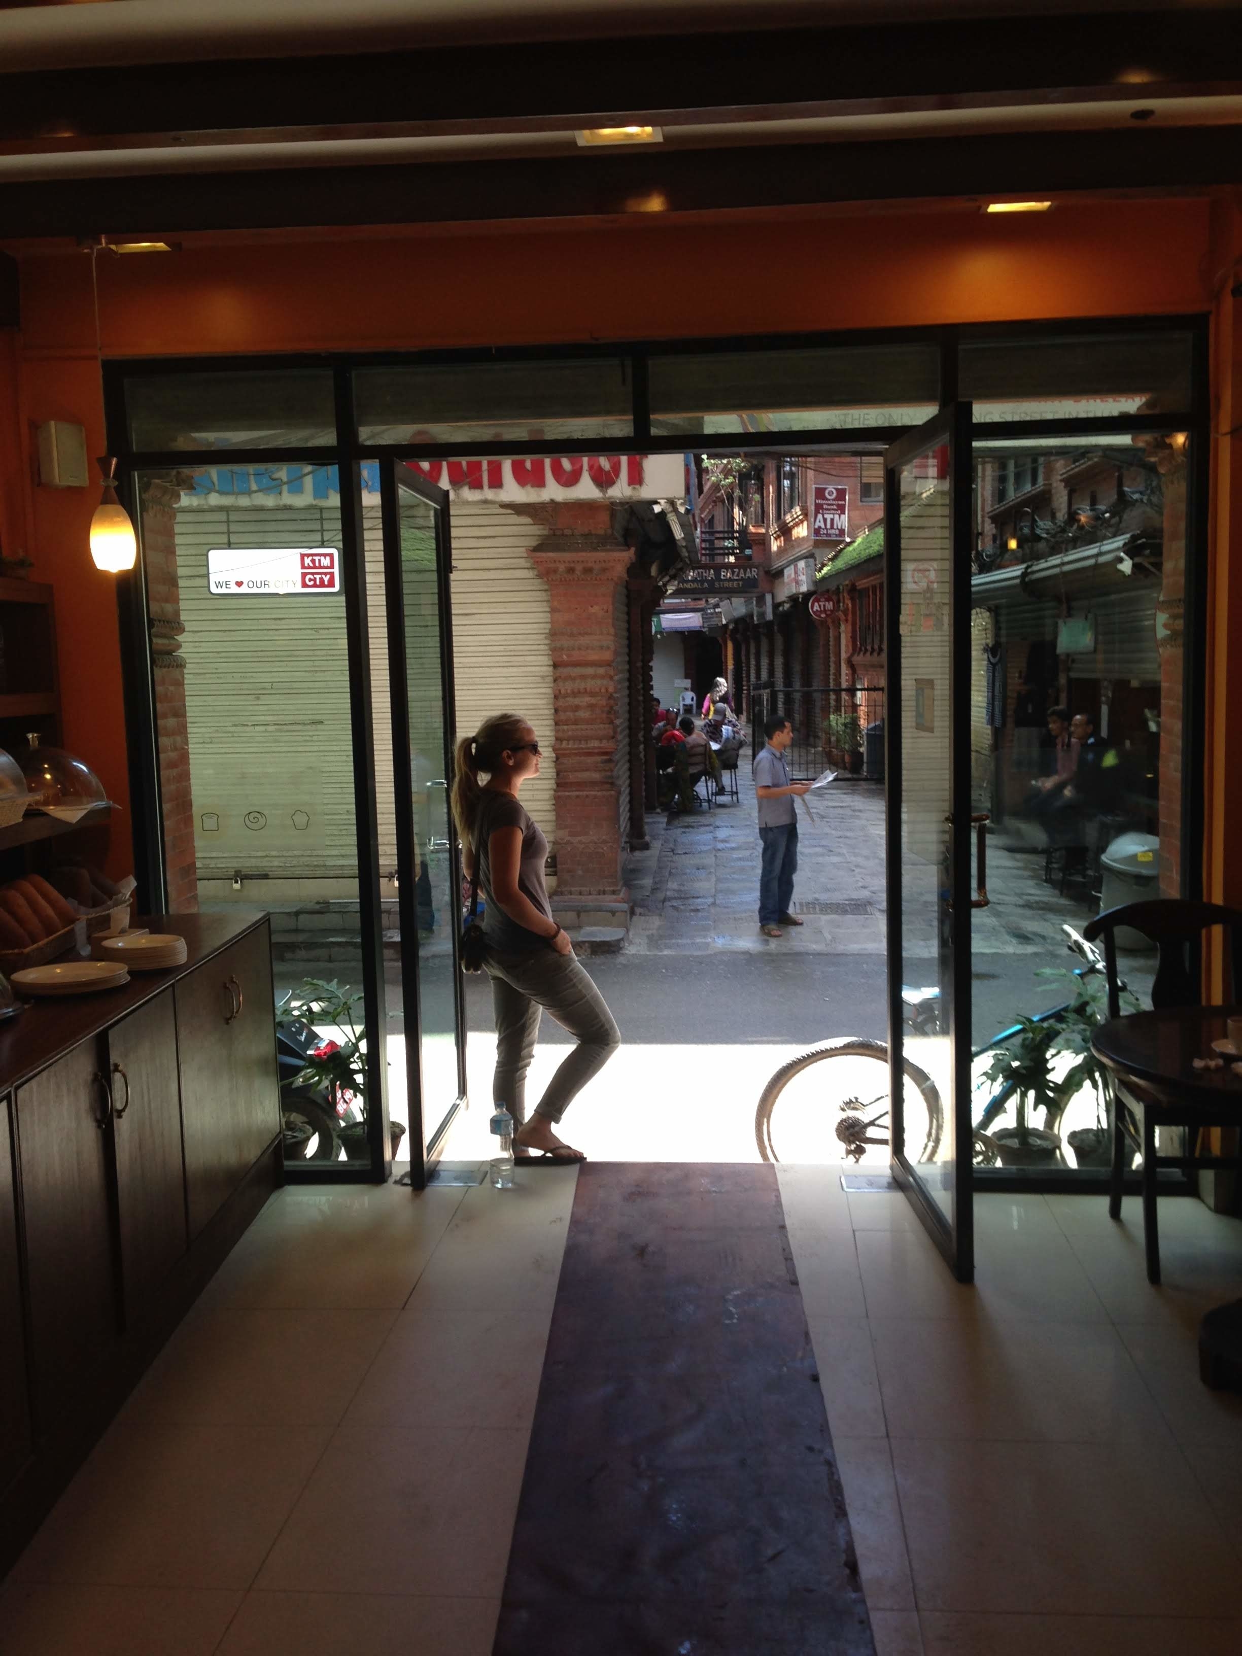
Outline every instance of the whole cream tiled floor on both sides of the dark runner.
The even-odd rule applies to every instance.
[[[899,1196],[782,1167],[879,1656],[1234,1656],[1242,1398],[1196,1320],[1242,1222],[977,1202],[954,1283]],[[5,1656],[487,1656],[575,1172],[285,1191],[0,1593]]]

